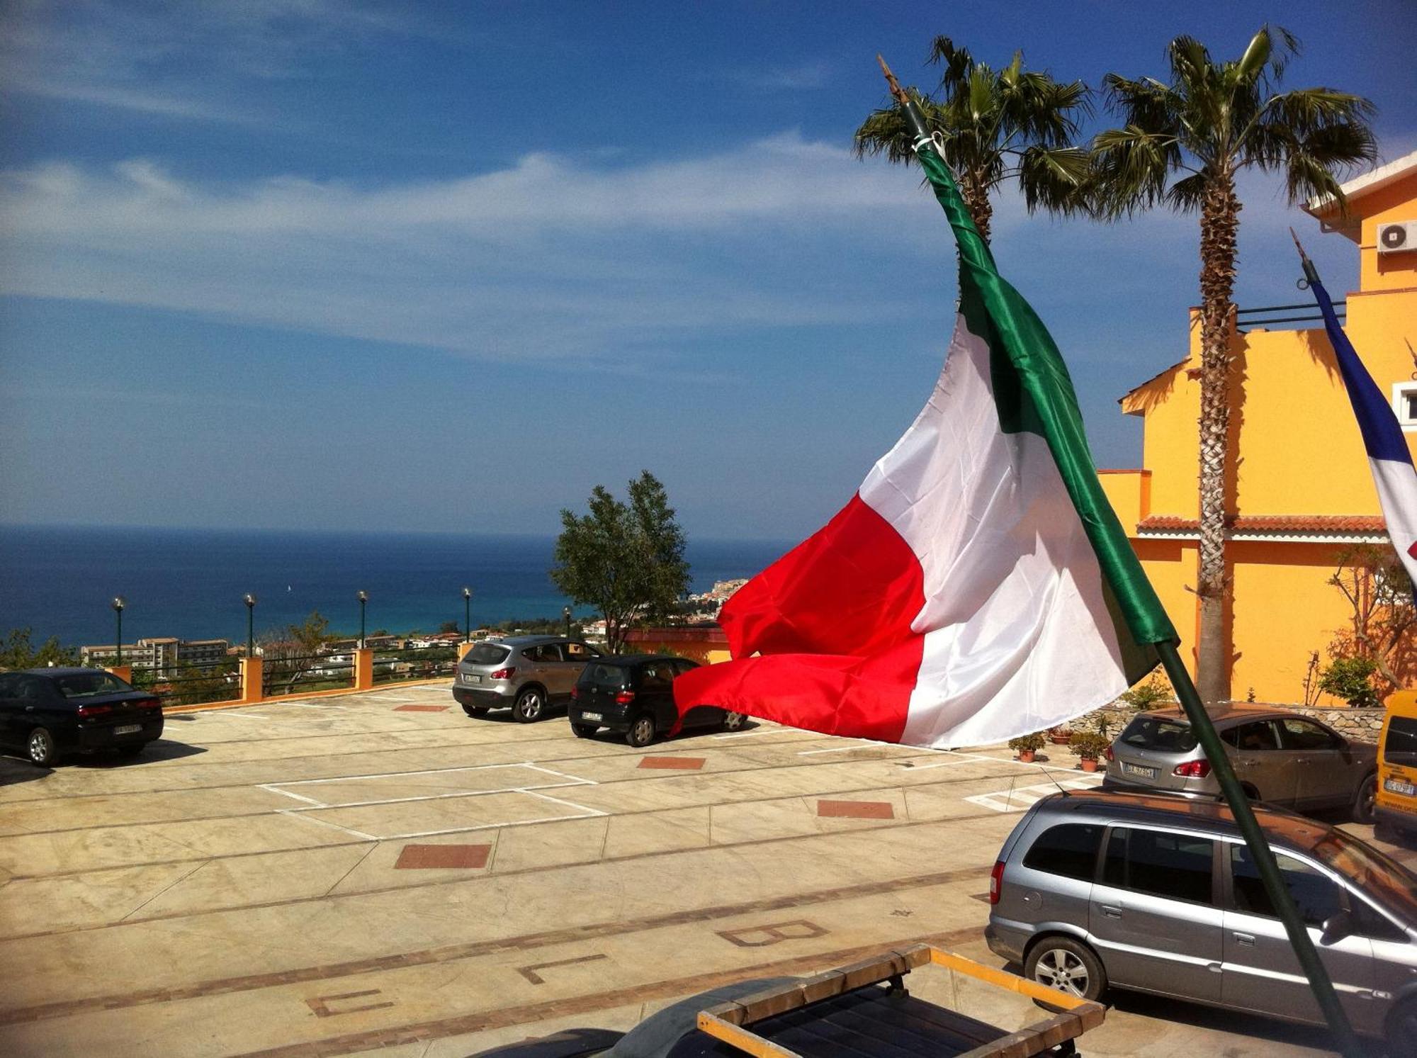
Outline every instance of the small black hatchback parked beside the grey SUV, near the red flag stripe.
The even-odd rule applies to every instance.
[[[622,654],[589,662],[571,691],[571,730],[588,739],[601,728],[622,732],[631,746],[648,746],[674,726],[674,678],[697,661],[665,654]],[[700,705],[684,715],[684,728],[737,730],[743,713]]]

